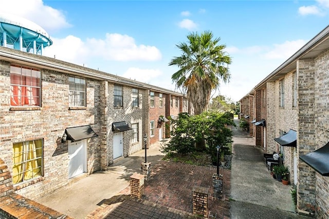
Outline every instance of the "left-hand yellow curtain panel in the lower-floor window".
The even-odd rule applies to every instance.
[[[23,143],[13,144],[12,182],[17,184],[23,180]]]

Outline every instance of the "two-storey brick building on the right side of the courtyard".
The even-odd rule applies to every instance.
[[[255,143],[264,153],[282,154],[297,188],[298,212],[316,218],[329,218],[328,63],[329,26],[241,99],[254,103],[242,113],[265,119],[261,128],[250,123]]]

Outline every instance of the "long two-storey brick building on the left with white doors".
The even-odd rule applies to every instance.
[[[5,47],[0,93],[0,158],[31,199],[141,150],[144,134],[159,141],[159,117],[188,110],[180,93]]]

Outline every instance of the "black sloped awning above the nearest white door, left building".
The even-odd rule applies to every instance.
[[[98,135],[94,132],[90,125],[83,125],[78,127],[69,127],[65,129],[67,139],[71,141],[79,141],[86,138],[94,138]]]

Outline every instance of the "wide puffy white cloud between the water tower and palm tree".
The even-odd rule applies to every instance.
[[[106,33],[103,39],[87,39],[93,56],[115,61],[156,61],[161,52],[155,46],[136,45],[134,38],[119,33]]]

